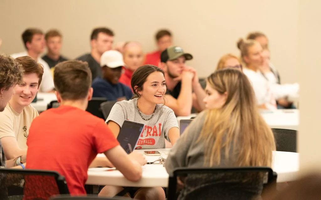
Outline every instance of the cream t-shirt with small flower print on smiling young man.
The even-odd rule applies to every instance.
[[[30,125],[34,118],[39,116],[38,111],[31,105],[17,113],[8,103],[3,112],[0,112],[0,139],[14,137],[21,149],[27,149]]]

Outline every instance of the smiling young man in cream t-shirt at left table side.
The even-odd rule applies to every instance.
[[[22,82],[14,87],[14,94],[0,113],[0,138],[7,159],[27,154],[27,139],[31,121],[39,116],[30,103],[39,91],[43,67],[29,56],[15,59],[24,70]]]

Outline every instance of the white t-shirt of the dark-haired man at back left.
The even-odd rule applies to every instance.
[[[14,53],[11,55],[13,58],[18,58],[21,56],[29,56],[28,52]],[[40,84],[40,92],[49,92],[55,88],[54,80],[52,78],[49,65],[46,61],[42,60],[40,57],[38,58],[38,62],[43,66],[43,75],[42,81]]]

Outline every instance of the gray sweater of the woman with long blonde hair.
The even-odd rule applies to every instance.
[[[202,168],[204,165],[204,141],[197,141],[206,111],[200,113],[183,132],[181,138],[170,150],[165,167],[171,176],[177,167]],[[239,148],[239,147],[238,147]],[[221,164],[216,167],[232,167],[238,156],[238,150],[233,153],[232,146],[229,159],[225,161],[225,150],[221,149]],[[254,178],[253,178],[254,177]],[[218,174],[190,174],[182,180],[184,188],[178,199],[260,199],[263,180],[257,179],[257,174],[218,173]],[[226,185],[226,183],[229,183]],[[227,187],[228,186],[228,187]]]

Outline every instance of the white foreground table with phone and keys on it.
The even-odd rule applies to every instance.
[[[146,149],[137,149],[143,151]],[[148,149],[157,150],[162,153],[162,157],[167,158],[170,149]],[[104,155],[98,155],[104,156]],[[147,162],[153,162],[159,156],[146,156]],[[165,167],[161,164],[146,164],[143,166],[141,180],[132,182],[127,180],[122,173],[117,170],[106,171],[110,168],[91,168],[88,170],[88,185],[113,185],[130,187],[168,187],[169,175]],[[299,154],[291,152],[273,151],[273,171],[277,172],[277,182],[295,180],[299,171]]]

